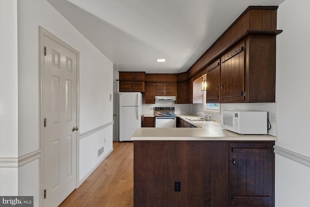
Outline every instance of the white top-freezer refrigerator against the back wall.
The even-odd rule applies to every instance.
[[[131,135],[141,127],[142,94],[120,92],[119,96],[119,137],[120,142],[131,141]]]

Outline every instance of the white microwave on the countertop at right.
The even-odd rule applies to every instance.
[[[222,111],[222,127],[239,134],[267,134],[267,111]]]

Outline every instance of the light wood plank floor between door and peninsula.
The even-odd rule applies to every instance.
[[[60,207],[133,207],[133,143],[113,142],[113,152]]]

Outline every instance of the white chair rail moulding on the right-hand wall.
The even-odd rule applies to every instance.
[[[296,152],[293,152],[291,150],[279,147],[274,145],[273,148],[275,149],[274,152],[278,155],[281,155],[285,158],[292,159],[300,164],[306,165],[310,167],[310,157],[298,154]]]

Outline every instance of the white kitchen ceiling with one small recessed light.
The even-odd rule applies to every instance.
[[[181,73],[249,5],[284,0],[47,0],[114,71]],[[157,63],[159,58],[165,63]]]

